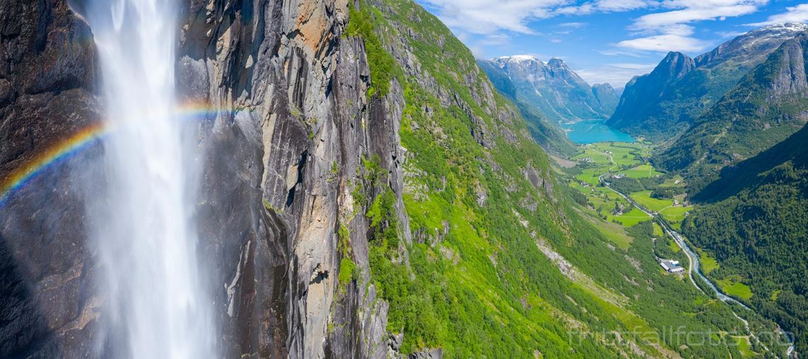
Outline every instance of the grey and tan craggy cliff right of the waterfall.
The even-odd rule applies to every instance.
[[[398,194],[409,235],[402,90],[368,98],[363,41],[342,35],[347,14],[345,1],[187,6],[179,80],[188,101],[211,110],[200,223],[214,282],[233,290],[216,294],[227,357],[386,353],[387,308],[366,284],[368,219],[353,193],[362,159],[376,155],[386,181],[360,191]],[[343,257],[362,273],[347,285]]]

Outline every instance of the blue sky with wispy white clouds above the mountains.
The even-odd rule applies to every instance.
[[[771,23],[808,22],[777,0],[417,0],[475,56],[560,57],[590,83],[625,86],[668,51],[707,52]]]

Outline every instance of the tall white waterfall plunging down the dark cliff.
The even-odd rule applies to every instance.
[[[197,258],[192,137],[175,115],[175,2],[89,0],[110,136],[88,215],[104,278],[103,357],[216,356]]]

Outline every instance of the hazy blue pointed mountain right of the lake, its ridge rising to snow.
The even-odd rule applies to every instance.
[[[802,23],[763,27],[695,59],[671,52],[652,73],[626,85],[609,124],[654,142],[670,140],[696,123],[783,41],[806,29]]]

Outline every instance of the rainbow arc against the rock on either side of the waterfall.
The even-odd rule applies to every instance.
[[[212,107],[207,102],[186,102],[177,107],[176,119],[181,121],[204,120],[215,117],[221,112],[249,111],[248,108]],[[11,198],[11,194],[25,187],[40,173],[55,167],[63,161],[74,157],[86,148],[103,141],[113,132],[112,127],[105,121],[90,125],[77,131],[72,136],[53,144],[44,151],[36,154],[12,169],[5,177],[0,177],[0,207]]]

